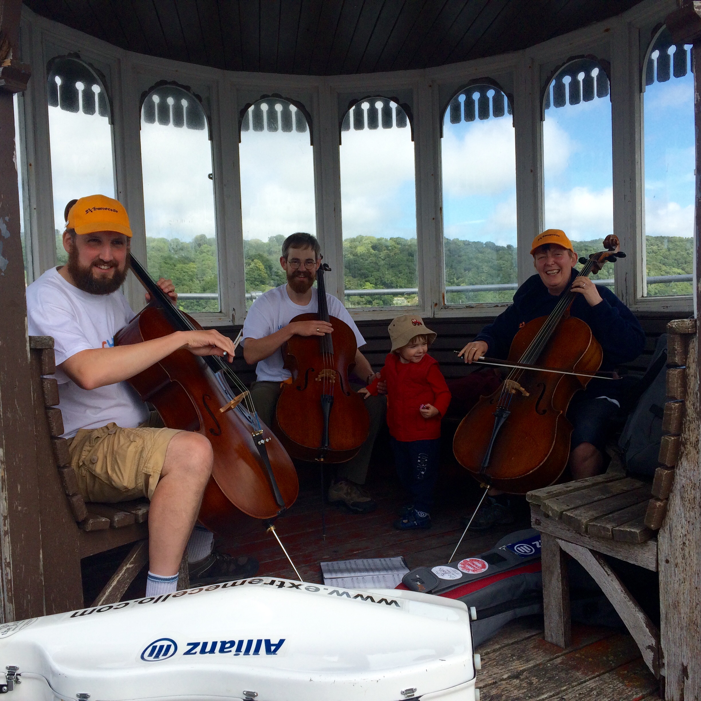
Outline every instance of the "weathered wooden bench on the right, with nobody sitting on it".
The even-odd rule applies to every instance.
[[[526,495],[531,523],[540,531],[543,557],[545,639],[562,648],[571,642],[566,555],[590,573],[620,615],[656,677],[664,673],[660,631],[613,572],[603,555],[658,571],[658,542],[679,458],[688,339],[693,319],[667,325],[667,402],[662,419],[660,466],[652,484],[626,477],[612,462],[608,472]]]

